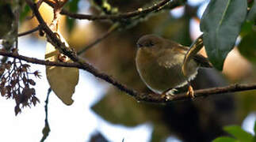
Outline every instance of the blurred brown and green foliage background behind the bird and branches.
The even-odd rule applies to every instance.
[[[102,2],[106,1],[71,0],[64,9],[80,13],[109,14],[116,13],[117,9],[118,12],[124,13],[143,7],[145,4],[152,5],[150,0],[112,0],[108,3],[111,8],[108,10],[101,9]],[[180,9],[179,17],[171,13],[173,10],[170,9],[147,15],[128,27],[113,32],[81,56],[101,72],[127,84],[129,88],[139,92],[150,92],[136,72],[137,39],[145,34],[155,33],[189,46],[201,34],[198,30],[200,22],[198,9],[203,5],[205,5],[204,1],[197,2],[197,5],[189,5],[189,2],[185,2],[183,6],[177,8]],[[43,4],[40,12],[45,21],[51,23],[52,8]],[[36,19],[26,20],[28,13],[31,12],[24,6],[20,32],[37,26]],[[78,21],[63,16],[60,27],[71,47],[81,50],[103,35],[112,25],[113,21]],[[235,48],[228,54],[224,71],[220,73],[215,69],[200,69],[197,78],[193,80],[194,89],[256,82],[255,32],[252,28],[248,30],[246,26],[248,25],[244,25],[242,32],[246,36],[241,33],[241,38],[244,37],[243,42],[240,43],[239,50]],[[31,38],[43,39],[38,36],[38,32],[33,33]],[[201,50],[201,53],[206,55],[204,50]],[[106,84],[104,81],[101,83]],[[98,116],[113,124],[134,127],[150,122],[154,127],[151,141],[164,141],[168,136],[176,136],[183,141],[210,141],[217,136],[226,135],[223,130],[224,125],[240,125],[247,114],[256,110],[255,93],[255,91],[239,92],[170,104],[152,104],[139,103],[110,85],[105,90],[104,97],[91,108]],[[101,138],[105,140],[104,136]],[[93,139],[95,140],[95,137],[92,141]]]

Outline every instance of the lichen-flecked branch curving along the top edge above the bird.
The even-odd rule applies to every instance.
[[[102,15],[102,16],[94,16],[94,15],[88,15],[88,14],[81,14],[81,13],[71,13],[68,12],[65,9],[62,9],[62,11],[60,12],[60,14],[66,15],[68,17],[71,18],[75,18],[75,19],[86,19],[89,21],[96,21],[96,20],[116,20],[119,21],[121,19],[128,19],[130,17],[136,17],[140,14],[146,14],[146,13],[151,13],[152,11],[155,10],[160,10],[162,9],[164,6],[166,6],[168,3],[170,2],[170,0],[162,0],[161,2],[159,2],[158,4],[155,4],[154,6],[148,7],[146,9],[137,9],[135,11],[132,12],[128,12],[128,13],[118,13],[115,15]],[[53,5],[50,2],[47,2],[49,6]],[[181,0],[173,0],[170,2],[170,9],[176,7],[176,6],[180,6],[181,3],[183,3],[183,1],[181,2]]]

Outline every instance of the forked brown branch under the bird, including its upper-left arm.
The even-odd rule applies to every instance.
[[[31,0],[25,0],[25,1],[28,3],[30,8],[32,9],[32,12],[35,14],[37,21],[39,21],[42,30],[47,35],[48,42],[52,43],[52,45],[55,46],[55,48],[57,48],[63,54],[67,55],[67,57],[71,58],[74,61],[74,63],[45,62],[44,60],[38,60],[36,58],[28,58],[28,57],[17,55],[17,54],[15,55],[10,53],[3,53],[2,51],[0,52],[0,54],[13,57],[13,58],[21,58],[27,62],[30,61],[32,63],[37,63],[41,65],[56,65],[56,66],[58,65],[58,66],[65,66],[65,67],[75,67],[78,69],[86,70],[87,72],[92,73],[95,77],[99,77],[102,80],[105,80],[106,82],[108,82],[109,84],[113,84],[114,86],[119,88],[120,91],[126,92],[128,95],[131,95],[138,101],[146,101],[151,103],[170,103],[174,100],[190,99],[189,95],[185,95],[185,93],[174,95],[173,97],[157,95],[157,94],[139,93],[139,92],[136,92],[135,90],[127,88],[124,84],[120,84],[113,77],[110,77],[105,73],[100,73],[97,69],[94,68],[93,65],[90,65],[84,60],[82,60],[81,58],[79,58],[77,54],[74,53],[73,50],[70,50],[69,48],[67,48],[65,44],[58,39],[56,34],[52,32],[52,30],[44,22],[35,3],[33,3]],[[222,94],[226,92],[239,92],[239,91],[252,90],[252,89],[256,89],[256,84],[235,84],[235,85],[230,85],[223,88],[208,88],[208,89],[197,90],[195,91],[195,97],[208,96],[212,94]]]

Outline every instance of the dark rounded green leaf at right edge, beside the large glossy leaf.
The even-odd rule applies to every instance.
[[[256,32],[250,32],[239,43],[240,53],[250,62],[256,63]]]

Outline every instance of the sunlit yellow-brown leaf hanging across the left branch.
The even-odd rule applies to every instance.
[[[62,42],[67,43],[60,33],[59,36]],[[62,58],[63,61],[60,61]],[[45,60],[51,62],[72,62],[70,58],[59,54],[59,50],[56,50],[51,43],[47,43]],[[71,105],[73,103],[71,97],[75,92],[75,86],[78,84],[79,70],[77,68],[46,66],[46,75],[55,95],[66,105]]]

